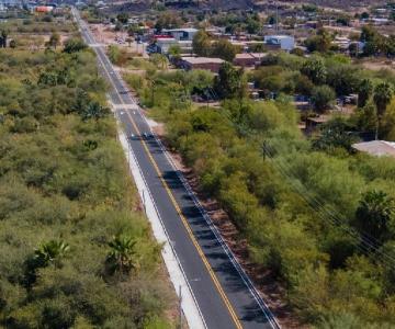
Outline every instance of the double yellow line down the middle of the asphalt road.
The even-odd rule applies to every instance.
[[[100,56],[98,56],[98,57],[99,57],[99,60],[102,63],[103,69],[104,69],[105,72],[108,73],[108,76],[109,76],[109,78],[110,78],[110,82],[111,82],[111,84],[113,86],[113,88],[114,88],[117,97],[120,98],[122,104],[125,105],[125,102],[123,101],[120,92],[117,91],[116,86],[115,86],[114,81],[112,80],[112,77],[111,77],[109,70],[105,68],[105,65],[104,65],[103,60],[100,58]],[[115,72],[114,72],[114,73],[115,73]],[[127,104],[126,104],[126,105],[127,105]],[[131,123],[132,123],[133,127],[135,128],[136,133],[137,133],[139,136],[142,136],[142,132],[138,129],[138,127],[137,127],[137,125],[136,125],[136,122],[135,122],[134,118],[132,117],[131,113],[129,113],[128,111],[126,111],[126,110],[125,110],[125,113],[126,113],[127,116],[129,117]],[[160,181],[161,181],[161,183],[162,183],[166,192],[168,193],[171,203],[173,204],[173,206],[174,206],[178,215],[180,216],[181,222],[182,222],[183,226],[185,227],[187,232],[188,232],[190,239],[192,240],[194,247],[195,247],[196,250],[198,250],[198,253],[199,253],[200,258],[202,259],[205,268],[207,269],[208,274],[210,274],[211,279],[212,279],[213,282],[214,282],[214,285],[215,285],[216,290],[218,291],[218,293],[219,293],[223,302],[225,303],[225,306],[226,306],[226,308],[228,309],[228,311],[229,311],[229,314],[230,314],[230,317],[232,317],[233,321],[235,322],[236,328],[237,328],[237,329],[242,329],[241,322],[240,322],[240,320],[238,319],[238,317],[237,317],[237,315],[236,315],[236,311],[235,311],[234,307],[232,306],[232,304],[230,304],[230,302],[229,302],[229,298],[226,296],[226,294],[225,294],[225,292],[224,292],[224,288],[222,287],[218,279],[216,277],[216,275],[215,275],[212,266],[210,265],[210,263],[208,263],[208,261],[207,261],[207,258],[206,258],[205,254],[203,253],[202,248],[199,246],[199,243],[198,243],[198,241],[196,241],[196,239],[195,239],[195,237],[194,237],[194,235],[193,235],[193,232],[192,232],[191,226],[189,225],[187,218],[185,218],[184,215],[182,214],[182,212],[181,212],[181,209],[180,209],[180,207],[179,207],[179,205],[178,205],[178,203],[177,203],[177,201],[176,201],[176,198],[174,198],[174,195],[173,195],[173,193],[171,192],[168,183],[165,181],[165,179],[163,179],[163,177],[162,177],[162,174],[161,174],[161,172],[160,172],[160,170],[159,170],[159,168],[158,168],[158,164],[156,163],[155,159],[153,158],[153,156],[151,156],[151,154],[150,154],[150,151],[149,151],[149,149],[148,149],[148,147],[147,147],[146,141],[145,141],[144,139],[140,139],[140,141],[142,141],[142,145],[143,145],[143,147],[144,147],[144,149],[145,149],[145,151],[146,151],[146,154],[147,154],[147,156],[148,156],[149,161],[150,161],[151,164],[154,166],[155,171],[157,172],[157,174],[158,174],[158,177],[159,177],[159,179],[160,179]]]

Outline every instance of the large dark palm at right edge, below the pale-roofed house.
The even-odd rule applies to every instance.
[[[383,191],[369,191],[356,212],[356,226],[361,234],[366,234],[380,242],[391,237],[390,222],[394,218],[394,200]]]

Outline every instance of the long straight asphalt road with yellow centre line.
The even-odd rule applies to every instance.
[[[87,24],[75,15],[84,41],[98,55],[102,75],[112,86],[111,101],[122,121],[143,175],[207,328],[279,328],[248,276],[213,227],[194,195],[163,152],[103,48]],[[120,105],[120,106],[116,106]],[[144,136],[146,135],[146,136]]]

